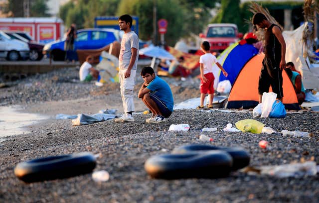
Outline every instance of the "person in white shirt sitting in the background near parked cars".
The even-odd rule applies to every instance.
[[[89,82],[93,78],[97,79],[99,76],[99,71],[92,66],[93,56],[89,55],[86,57],[85,62],[82,64],[79,75],[80,81]]]

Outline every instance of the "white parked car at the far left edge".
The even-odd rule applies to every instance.
[[[3,31],[0,31],[0,58],[10,61],[27,59],[29,57],[29,45],[23,41],[11,39]]]

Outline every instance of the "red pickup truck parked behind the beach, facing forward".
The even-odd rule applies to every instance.
[[[211,52],[222,52],[243,37],[243,33],[238,32],[236,24],[214,23],[208,24],[205,34],[200,33],[199,37],[202,38],[202,41],[210,43]]]

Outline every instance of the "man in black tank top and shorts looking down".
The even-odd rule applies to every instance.
[[[283,76],[286,61],[286,43],[278,25],[268,21],[262,13],[255,13],[253,24],[264,29],[265,32],[265,58],[263,67],[259,76],[258,93],[259,103],[263,93],[269,92],[271,86],[273,92],[277,94],[277,99],[283,101]]]

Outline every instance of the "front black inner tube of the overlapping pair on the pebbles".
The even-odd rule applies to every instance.
[[[146,172],[157,179],[223,178],[231,172],[232,158],[224,151],[162,154],[149,158]]]

